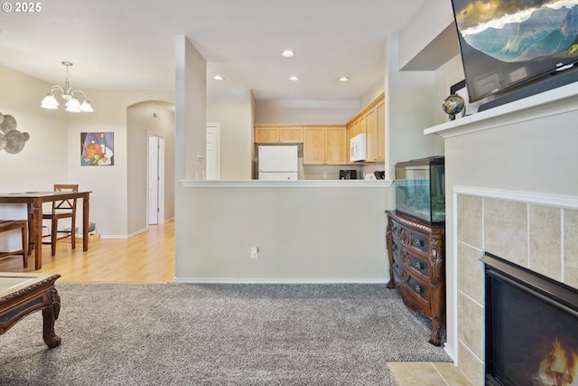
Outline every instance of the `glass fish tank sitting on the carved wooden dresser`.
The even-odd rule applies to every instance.
[[[443,156],[396,164],[396,211],[431,225],[445,222]]]

